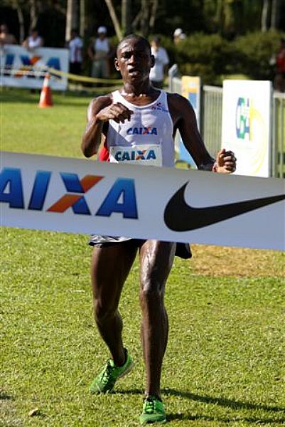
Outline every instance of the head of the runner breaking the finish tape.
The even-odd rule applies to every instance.
[[[122,74],[124,82],[141,83],[147,80],[153,66],[154,58],[143,40],[131,38],[119,47],[115,67]]]

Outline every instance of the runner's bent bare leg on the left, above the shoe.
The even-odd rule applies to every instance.
[[[130,243],[94,248],[92,255],[91,277],[95,322],[117,366],[125,362],[122,343],[123,323],[118,311],[119,297],[135,257],[136,247]]]

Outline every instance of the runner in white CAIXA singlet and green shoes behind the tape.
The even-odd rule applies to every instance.
[[[229,174],[235,171],[232,152],[222,149],[216,161],[210,157],[198,132],[195,112],[181,95],[151,86],[154,66],[149,42],[141,36],[127,36],[117,48],[114,60],[123,87],[90,102],[87,127],[82,137],[86,157],[96,154],[101,137],[110,162],[137,162],[158,167],[174,166],[174,142],[179,130],[185,147],[198,169]],[[131,149],[150,150],[149,159],[132,159]],[[93,235],[92,292],[95,322],[111,358],[90,386],[92,393],[112,391],[115,382],[127,374],[133,360],[122,342],[122,317],[118,311],[124,282],[139,250],[139,299],[142,312],[141,341],[146,367],[146,389],[140,422],[164,423],[161,401],[161,366],[168,337],[168,317],[163,302],[166,280],[176,255],[176,243]],[[183,258],[190,258],[187,247]],[[179,255],[179,254],[178,254]]]

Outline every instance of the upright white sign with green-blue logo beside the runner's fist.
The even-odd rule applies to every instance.
[[[222,147],[237,157],[237,175],[270,176],[271,82],[224,80]]]

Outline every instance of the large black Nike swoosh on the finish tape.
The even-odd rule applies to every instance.
[[[186,204],[184,191],[188,182],[168,201],[164,211],[164,222],[173,231],[190,231],[210,226],[225,219],[262,208],[276,201],[285,200],[285,194],[269,196],[263,199],[237,201],[231,204],[193,208]]]

